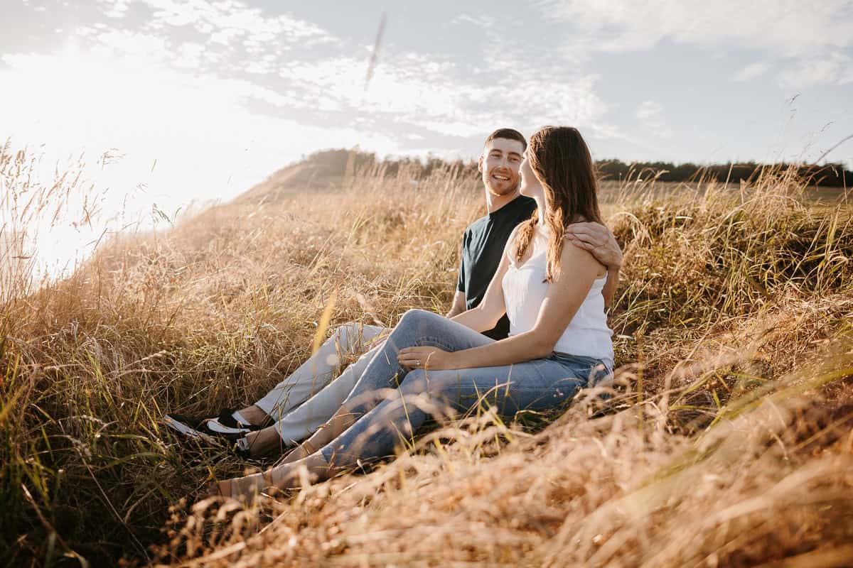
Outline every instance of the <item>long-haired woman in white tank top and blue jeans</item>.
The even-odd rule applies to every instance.
[[[502,416],[571,400],[612,372],[612,332],[601,287],[606,267],[565,246],[566,226],[598,221],[595,174],[577,129],[545,127],[531,137],[519,191],[537,213],[516,228],[479,307],[452,319],[410,310],[374,355],[340,410],[280,465],[214,488],[251,498],[299,485],[299,471],[328,479],[357,462],[391,455],[401,433],[429,413],[482,401]],[[510,335],[490,330],[504,313]]]

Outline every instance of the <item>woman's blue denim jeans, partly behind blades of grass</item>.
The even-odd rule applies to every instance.
[[[344,401],[357,422],[322,448],[323,457],[334,467],[351,467],[392,455],[401,436],[410,437],[429,415],[464,412],[485,403],[512,418],[519,410],[554,408],[609,375],[601,361],[565,353],[475,369],[409,371],[397,363],[403,347],[452,352],[494,341],[436,313],[404,313]]]

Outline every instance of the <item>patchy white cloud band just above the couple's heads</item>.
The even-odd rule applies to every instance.
[[[288,63],[281,75],[304,94],[291,104],[308,107],[327,101],[331,110],[356,109],[442,135],[478,135],[495,123],[519,128],[573,123],[595,129],[595,120],[606,112],[594,93],[595,75],[567,77],[564,72],[564,80],[554,82],[547,73],[531,77],[515,68],[499,81],[484,81],[460,77],[466,73],[450,61],[388,53],[364,89],[364,68],[363,60],[339,57]]]

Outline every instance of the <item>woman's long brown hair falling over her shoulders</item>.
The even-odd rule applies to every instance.
[[[543,218],[551,230],[545,281],[554,282],[560,277],[566,226],[578,221],[601,222],[592,156],[577,129],[545,126],[531,136],[527,161],[545,190],[548,209]],[[524,258],[537,222],[538,215],[534,213],[529,221],[519,225],[514,243],[517,262]]]

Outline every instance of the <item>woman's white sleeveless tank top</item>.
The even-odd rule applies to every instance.
[[[533,329],[539,316],[539,308],[545,300],[548,286],[551,285],[544,282],[548,258],[547,232],[537,231],[531,245],[533,250],[527,261],[517,266],[516,260],[511,258],[507,273],[503,276],[502,288],[509,318],[509,336],[517,336]],[[566,271],[563,276],[566,276]],[[610,338],[613,332],[607,327],[604,296],[601,295],[606,279],[606,275],[595,279],[583,303],[577,308],[577,313],[554,345],[554,351],[599,359],[612,371],[613,344]]]

